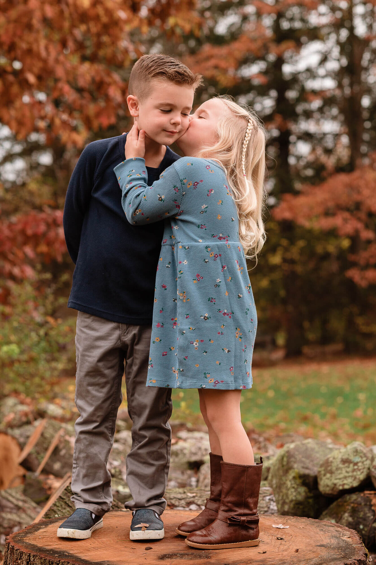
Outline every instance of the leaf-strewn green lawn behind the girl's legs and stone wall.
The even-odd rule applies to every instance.
[[[252,373],[241,397],[246,429],[376,444],[375,358],[283,362]],[[202,423],[197,390],[174,390],[172,398],[174,420]]]

